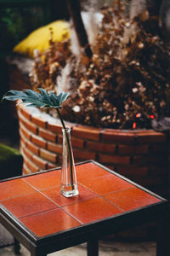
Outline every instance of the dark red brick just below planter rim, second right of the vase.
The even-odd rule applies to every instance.
[[[116,152],[116,145],[114,144],[94,143],[91,141],[87,141],[86,148],[88,148],[89,150],[93,150],[95,152],[104,152],[104,153]]]

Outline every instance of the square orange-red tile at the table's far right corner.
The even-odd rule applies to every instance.
[[[116,207],[120,207],[123,211],[130,211],[160,201],[155,196],[138,188],[126,189],[111,195],[105,195],[105,199],[111,201],[111,203]]]

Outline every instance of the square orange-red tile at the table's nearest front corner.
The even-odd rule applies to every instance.
[[[37,236],[46,236],[80,225],[76,219],[60,208],[20,218],[20,221]]]

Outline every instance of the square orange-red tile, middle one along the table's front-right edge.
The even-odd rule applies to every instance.
[[[63,209],[69,212],[74,218],[77,218],[82,224],[88,224],[89,222],[107,218],[122,212],[101,197],[77,202],[63,207]]]

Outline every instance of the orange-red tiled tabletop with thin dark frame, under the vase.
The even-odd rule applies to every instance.
[[[71,198],[59,193],[59,168],[0,182],[0,213],[36,240],[166,202],[94,161],[76,169],[79,195]]]

